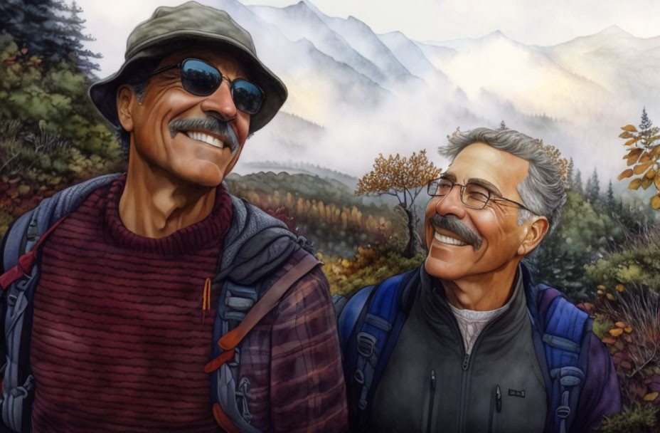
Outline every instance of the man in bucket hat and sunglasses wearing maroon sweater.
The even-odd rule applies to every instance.
[[[250,34],[160,7],[90,97],[127,173],[58,192],[3,239],[0,431],[346,430],[319,262],[222,184],[287,98]]]

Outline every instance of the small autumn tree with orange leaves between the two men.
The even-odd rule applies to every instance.
[[[426,150],[403,158],[399,154],[385,158],[381,153],[373,162],[373,170],[358,181],[356,194],[388,194],[399,200],[397,206],[408,218],[408,244],[403,251],[405,257],[414,256],[420,244],[419,236],[415,234],[415,199],[431,179],[440,176],[440,172],[442,170],[428,160]]]

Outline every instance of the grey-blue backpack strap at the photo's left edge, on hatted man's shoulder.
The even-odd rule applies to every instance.
[[[63,189],[43,199],[35,209],[20,216],[3,240],[2,264],[8,271],[18,259],[37,244],[42,234],[63,216],[77,208],[94,191],[116,179],[108,174]],[[32,300],[38,285],[41,264],[37,260],[21,278],[16,279],[2,293],[1,311],[4,335],[2,391],[2,420],[15,432],[31,429],[33,376],[29,367],[32,329]]]

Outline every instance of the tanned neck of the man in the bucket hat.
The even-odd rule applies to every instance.
[[[215,189],[175,177],[134,155],[131,146],[119,216],[134,234],[162,238],[211,214]]]

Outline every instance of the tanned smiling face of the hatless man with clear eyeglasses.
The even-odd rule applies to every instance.
[[[457,155],[443,177],[459,184],[477,182],[500,197],[522,202],[518,185],[527,174],[526,160],[477,142]],[[452,219],[448,224],[441,224],[445,228],[434,224],[442,217]],[[517,266],[529,251],[522,245],[531,225],[526,222],[518,226],[517,218],[518,208],[507,202],[490,200],[484,209],[466,207],[461,202],[458,186],[445,197],[433,197],[425,218],[429,249],[426,271],[451,281],[461,278],[489,281],[492,273],[511,264]]]

